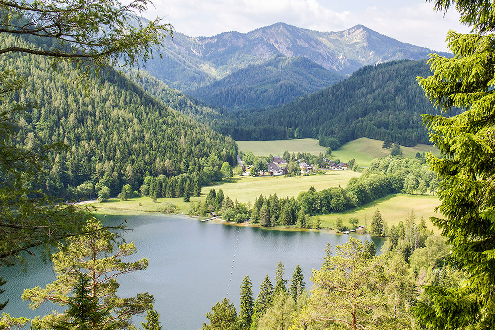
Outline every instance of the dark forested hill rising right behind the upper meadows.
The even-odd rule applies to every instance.
[[[333,149],[361,137],[405,146],[429,143],[421,114],[434,113],[416,82],[428,76],[426,61],[366,66],[320,92],[269,110],[239,111],[237,121],[215,127],[236,140],[316,138]]]

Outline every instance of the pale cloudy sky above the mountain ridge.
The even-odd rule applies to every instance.
[[[129,1],[129,0],[124,0]],[[191,37],[226,31],[246,33],[284,22],[317,31],[342,31],[362,24],[399,41],[447,51],[448,30],[468,33],[457,12],[435,12],[425,0],[152,0],[143,14],[161,17]]]

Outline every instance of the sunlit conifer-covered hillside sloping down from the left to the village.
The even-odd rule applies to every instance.
[[[2,46],[22,41],[2,36]],[[15,68],[27,87],[16,95],[21,104],[18,143],[26,147],[63,141],[68,150],[50,156],[40,173],[43,187],[55,196],[73,197],[76,187],[100,182],[117,194],[124,184],[138,190],[146,175],[219,172],[235,161],[237,146],[210,128],[177,113],[113,70],[100,72],[85,88],[74,84],[77,72],[29,55],[0,57],[2,68]],[[211,177],[211,176],[210,176]]]

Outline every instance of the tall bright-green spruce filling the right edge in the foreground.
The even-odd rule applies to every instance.
[[[439,211],[432,218],[448,239],[451,259],[467,280],[461,287],[429,286],[415,314],[427,329],[494,329],[495,325],[495,7],[494,1],[430,0],[450,6],[472,34],[449,31],[452,58],[433,54],[433,75],[418,77],[426,96],[442,111],[424,115],[430,141],[441,157],[427,154],[437,173]],[[453,108],[464,110],[448,116]]]

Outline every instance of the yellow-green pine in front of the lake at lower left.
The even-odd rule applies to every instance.
[[[70,237],[69,245],[53,254],[57,279],[45,289],[38,286],[24,290],[22,299],[31,300],[32,308],[38,308],[46,301],[67,306],[67,301],[71,301],[69,294],[73,292],[75,296],[72,305],[68,304],[68,311],[76,317],[79,315],[92,320],[88,321],[89,329],[97,329],[100,319],[109,328],[132,327],[132,317],[152,309],[154,298],[148,293],[120,298],[115,277],[146,269],[148,260],[127,261],[136,253],[134,243],[122,242],[114,233],[103,229],[97,219],[89,219],[84,229],[90,234]],[[81,273],[83,277],[79,275]],[[74,291],[71,283],[80,285]],[[97,310],[94,309],[95,304]],[[104,313],[99,314],[99,311]],[[33,327],[51,329],[64,320],[64,313],[55,312],[33,321]]]

